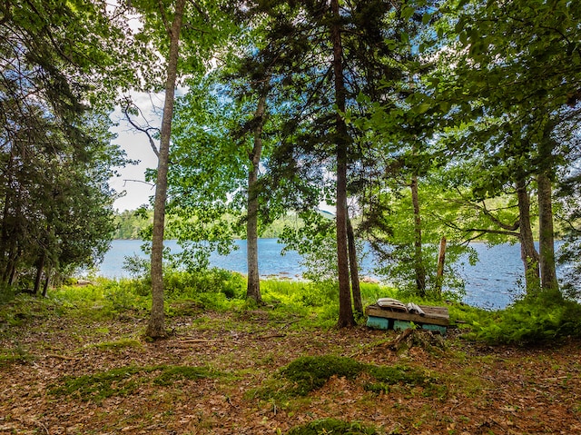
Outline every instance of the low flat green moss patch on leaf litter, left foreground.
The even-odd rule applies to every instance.
[[[148,376],[153,373],[153,376]],[[113,396],[133,394],[144,384],[170,386],[174,381],[199,380],[215,376],[205,368],[190,366],[127,366],[79,377],[66,376],[49,387],[56,397],[77,396],[81,400],[101,402]]]

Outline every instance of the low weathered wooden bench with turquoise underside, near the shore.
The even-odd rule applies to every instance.
[[[446,327],[450,323],[448,308],[428,305],[419,305],[419,308],[424,311],[424,315],[381,308],[377,304],[369,305],[365,310],[368,316],[367,326],[380,330],[406,330],[417,325],[424,330],[438,331],[445,335]]]

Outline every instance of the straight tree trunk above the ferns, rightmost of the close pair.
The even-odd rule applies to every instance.
[[[558,291],[555,265],[555,233],[553,230],[553,200],[551,181],[547,173],[537,176],[538,188],[538,251],[541,288]]]

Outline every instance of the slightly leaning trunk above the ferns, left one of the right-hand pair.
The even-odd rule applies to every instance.
[[[530,199],[524,180],[517,181],[517,199],[520,258],[525,266],[525,284],[528,292],[539,288],[540,273],[538,272],[538,252],[530,224]]]

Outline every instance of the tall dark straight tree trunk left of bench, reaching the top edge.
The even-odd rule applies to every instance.
[[[349,135],[341,113],[345,112],[345,82],[343,77],[343,46],[341,44],[339,0],[330,1],[330,37],[333,44],[333,73],[335,80],[335,116],[337,129],[337,269],[339,273],[340,328],[355,325],[351,305],[349,255],[347,243],[347,160]]]

